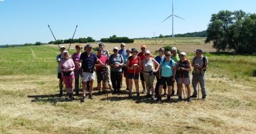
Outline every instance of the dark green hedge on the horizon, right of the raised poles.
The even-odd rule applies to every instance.
[[[124,43],[133,43],[134,40],[133,39],[129,39],[128,37],[117,37],[116,35],[110,36],[109,38],[101,38],[100,41],[106,43],[120,43],[120,42],[124,42]]]

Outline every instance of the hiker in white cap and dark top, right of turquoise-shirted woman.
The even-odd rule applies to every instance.
[[[189,102],[191,101],[191,98],[190,98],[191,90],[189,87],[189,84],[190,84],[189,71],[191,71],[191,63],[189,59],[186,59],[186,52],[181,52],[180,61],[178,61],[177,63],[177,77],[178,77],[177,83],[178,83],[178,89],[179,89],[178,101],[182,100],[182,84],[185,84],[186,92],[188,89],[187,101]],[[183,93],[185,93],[185,91],[183,91]]]

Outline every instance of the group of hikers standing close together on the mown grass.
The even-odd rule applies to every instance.
[[[125,43],[113,48],[113,54],[104,49],[104,43],[99,43],[97,54],[92,53],[92,45],[88,44],[84,47],[76,45],[76,52],[70,56],[64,46],[60,47],[61,54],[56,57],[58,62],[58,78],[60,87],[60,96],[63,95],[63,82],[67,92],[67,99],[73,99],[73,83],[75,83],[75,95],[79,95],[79,84],[83,85],[83,93],[81,94],[81,102],[86,98],[93,99],[93,81],[95,80],[95,72],[97,77],[97,89],[100,93],[107,93],[108,89],[113,94],[120,93],[123,87],[123,77],[128,96],[132,97],[133,82],[136,89],[136,96],[140,99],[139,77],[143,90],[141,93],[147,93],[146,97],[156,101],[161,101],[162,97],[171,100],[172,96],[177,95],[177,101],[182,100],[182,93],[187,101],[191,98],[199,97],[199,84],[202,91],[202,100],[205,100],[207,93],[205,90],[205,71],[208,68],[208,59],[202,55],[202,50],[195,51],[196,56],[193,57],[192,63],[186,58],[186,52],[177,54],[177,48],[172,47],[171,51],[165,51],[159,48],[159,55],[153,58],[146,45],[141,45],[141,52],[136,48],[125,49]],[[189,71],[193,67],[192,86],[194,89],[191,95],[189,87]],[[156,85],[154,86],[154,81]],[[75,82],[74,82],[75,81]],[[175,94],[175,81],[177,85],[177,94]],[[185,85],[184,89],[182,84]],[[108,86],[107,86],[108,85]],[[147,89],[147,90],[146,90]],[[164,93],[162,94],[162,91]],[[167,92],[167,93],[166,93]]]

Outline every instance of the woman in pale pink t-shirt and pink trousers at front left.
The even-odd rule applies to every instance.
[[[73,81],[75,64],[72,59],[69,59],[67,51],[63,52],[63,59],[60,61],[61,77],[64,81],[67,99],[73,99]]]

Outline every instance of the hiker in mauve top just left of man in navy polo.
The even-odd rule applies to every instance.
[[[79,94],[79,78],[82,77],[82,70],[81,70],[81,66],[79,64],[79,59],[81,56],[81,50],[83,49],[83,47],[81,47],[81,45],[76,45],[76,52],[74,54],[72,54],[71,58],[75,63],[75,70],[74,70],[74,75],[75,75],[75,91],[76,91],[76,95]]]

